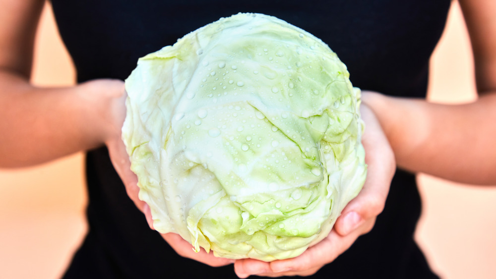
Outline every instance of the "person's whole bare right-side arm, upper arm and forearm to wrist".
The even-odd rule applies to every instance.
[[[496,184],[496,2],[460,0],[474,51],[479,98],[464,105],[364,94],[399,167],[446,179]]]

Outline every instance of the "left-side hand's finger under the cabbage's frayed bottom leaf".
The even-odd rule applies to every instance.
[[[195,252],[191,244],[177,233],[163,233],[162,237],[169,243],[169,245],[171,245],[176,253],[182,257],[192,259],[212,267],[226,266],[234,263],[234,260],[232,259],[215,257],[213,252],[207,253],[203,249],[200,249],[199,252]]]

